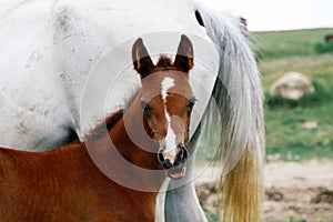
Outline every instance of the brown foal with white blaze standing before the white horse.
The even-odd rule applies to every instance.
[[[174,62],[161,57],[154,65],[138,39],[132,58],[142,88],[123,115],[107,120],[108,131],[41,153],[0,149],[0,221],[154,221],[163,170],[172,179],[185,173],[193,48],[182,36]],[[110,180],[91,154],[140,189]],[[155,173],[127,168],[117,154]]]

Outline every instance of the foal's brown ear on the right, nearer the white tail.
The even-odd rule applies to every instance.
[[[173,65],[186,73],[193,68],[193,46],[184,34],[181,37]]]

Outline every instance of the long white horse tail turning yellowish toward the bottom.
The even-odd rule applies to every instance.
[[[239,22],[200,6],[199,16],[220,53],[212,102],[222,120],[223,222],[259,222],[263,198],[264,127],[260,73]],[[198,14],[196,14],[198,16]]]

